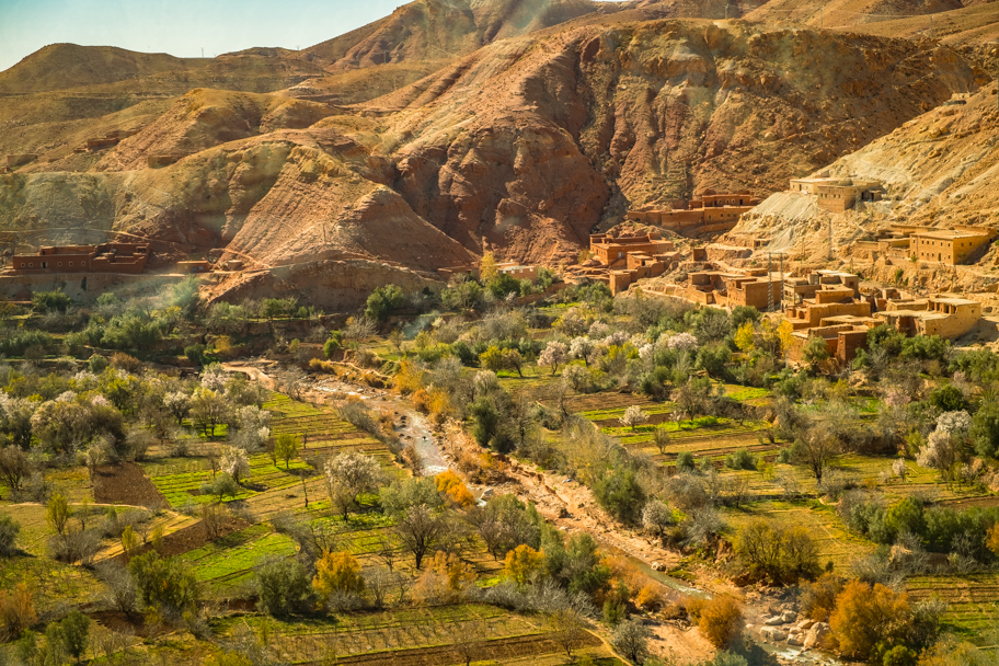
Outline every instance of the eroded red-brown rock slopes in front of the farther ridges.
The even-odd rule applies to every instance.
[[[665,11],[656,2],[501,39],[538,19],[515,4],[475,3],[474,30],[491,35],[475,39],[491,44],[367,104],[192,91],[107,152],[71,158],[92,173],[42,173],[78,163],[43,154],[0,176],[0,227],[113,228],[266,267],[363,257],[434,271],[483,242],[556,263],[630,207],[783,190],[985,81],[944,46],[615,19]],[[399,16],[379,26],[411,25]],[[191,154],[147,168],[171,151]]]

